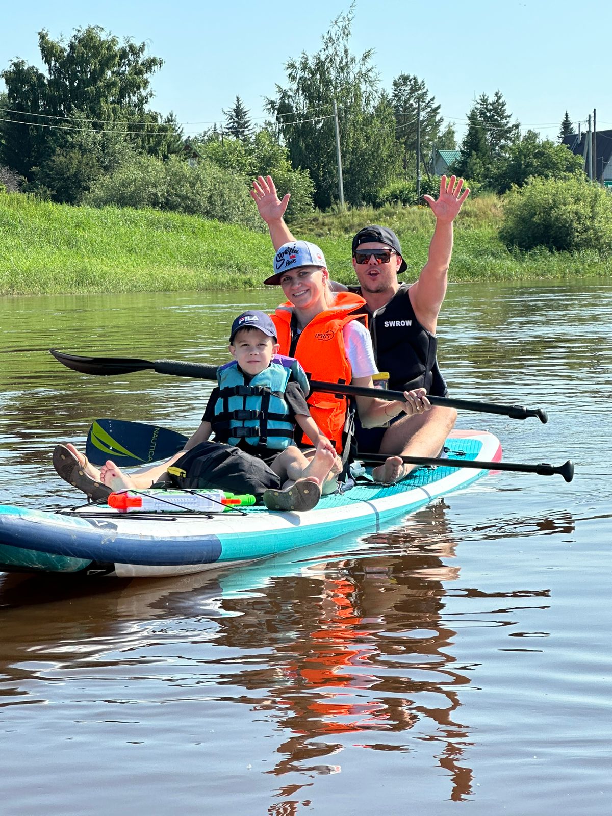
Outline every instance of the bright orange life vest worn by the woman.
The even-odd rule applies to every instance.
[[[353,374],[344,348],[342,330],[352,320],[367,320],[363,310],[365,305],[366,301],[359,295],[337,292],[335,304],[315,315],[300,333],[297,344],[292,347],[293,306],[290,303],[282,304],[272,315],[281,346],[279,354],[296,357],[310,379],[326,383],[350,383]],[[348,397],[313,391],[308,396],[308,406],[319,430],[333,443],[337,452],[341,453]],[[295,438],[299,445],[312,444],[299,428],[295,428]]]

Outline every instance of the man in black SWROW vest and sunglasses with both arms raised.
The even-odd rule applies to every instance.
[[[453,221],[469,194],[468,188],[463,192],[462,188],[463,179],[456,180],[453,175],[447,181],[443,175],[437,200],[424,196],[436,216],[436,227],[428,261],[411,285],[397,279],[407,264],[391,229],[370,226],[353,237],[353,268],[359,286],[350,290],[366,300],[376,363],[379,370],[388,371],[389,388],[404,391],[424,387],[435,396],[446,395],[446,383],[437,366],[436,330],[453,251]],[[253,182],[251,197],[268,224],[274,249],[295,241],[283,220],[290,193],[281,201],[268,175]],[[335,284],[335,288],[347,287]],[[419,417],[398,417],[388,428],[357,428],[357,447],[361,453],[388,454],[373,476],[377,481],[397,481],[412,469],[400,457],[437,456],[456,418],[454,409],[434,406]]]

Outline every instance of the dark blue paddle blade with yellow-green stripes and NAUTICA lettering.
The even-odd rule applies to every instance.
[[[187,437],[182,433],[122,419],[95,419],[87,434],[85,455],[93,464],[107,459],[120,467],[139,467],[170,459],[183,450]]]

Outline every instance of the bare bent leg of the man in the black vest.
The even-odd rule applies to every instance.
[[[405,478],[417,465],[403,463],[400,456],[437,456],[455,426],[454,408],[433,406],[424,415],[406,416],[393,423],[380,443],[380,453],[388,454],[384,464],[372,471],[375,481],[389,484]]]

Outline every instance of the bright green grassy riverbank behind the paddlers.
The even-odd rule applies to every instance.
[[[508,251],[499,241],[499,199],[468,199],[455,228],[455,281],[602,277],[612,259]],[[427,259],[433,218],[425,207],[317,213],[293,224],[317,242],[337,280],[353,279],[350,238],[368,223],[400,237],[409,274]],[[0,193],[0,294],[222,290],[259,286],[269,274],[266,233],[193,215],[74,207]],[[406,276],[406,279],[409,279]]]

